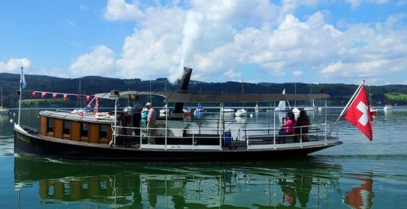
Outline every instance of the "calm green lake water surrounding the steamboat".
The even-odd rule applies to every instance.
[[[339,114],[326,109],[310,117],[332,123]],[[37,115],[22,110],[22,124],[38,127]],[[0,118],[0,208],[407,208],[407,109],[379,110],[372,142],[342,119],[340,146],[293,160],[228,163],[15,156],[10,118],[17,121]],[[253,113],[234,127],[268,119]]]

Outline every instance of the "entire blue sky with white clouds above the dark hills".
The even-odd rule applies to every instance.
[[[407,84],[407,0],[2,0],[0,72]],[[29,82],[29,81],[27,81]]]

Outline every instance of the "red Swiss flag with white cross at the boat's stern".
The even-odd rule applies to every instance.
[[[349,109],[345,112],[344,118],[358,127],[358,129],[372,141],[372,115],[369,111],[365,86],[360,88],[358,95],[356,95]]]

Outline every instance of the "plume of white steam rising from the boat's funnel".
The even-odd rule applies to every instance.
[[[168,77],[170,82],[176,82],[177,79],[182,77],[184,72],[185,61],[188,61],[189,56],[193,51],[194,44],[203,34],[204,15],[202,13],[195,13],[193,10],[189,10],[186,13],[186,21],[182,34],[182,46],[181,46],[181,58],[179,59],[178,67],[170,67],[170,76]],[[193,66],[190,66],[193,68]]]

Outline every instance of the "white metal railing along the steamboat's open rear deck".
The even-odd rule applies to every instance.
[[[317,146],[335,143],[339,141],[338,131],[328,132],[327,126],[330,124],[308,125],[308,133],[303,133],[302,128],[299,133],[282,135],[278,131],[285,129],[282,127],[263,128],[219,128],[219,127],[187,127],[187,128],[166,128],[155,127],[150,130],[147,127],[123,127],[116,126],[118,132],[116,137],[129,137],[139,141],[140,149],[163,149],[163,150],[222,150],[223,148],[241,149],[277,149],[292,148],[298,146]],[[113,127],[114,129],[114,127]],[[135,130],[139,129],[141,134],[134,136]],[[121,134],[120,134],[121,132]],[[175,136],[173,133],[182,133]],[[225,132],[230,132],[230,143],[226,144]],[[149,136],[149,133],[152,135]],[[149,140],[150,138],[150,140]],[[169,139],[169,140],[168,140]],[[205,141],[211,140],[210,144]],[[150,141],[150,144],[149,144]],[[244,141],[245,143],[241,143]],[[159,142],[159,143],[157,143]],[[203,143],[202,143],[203,142]],[[239,147],[236,146],[239,144]]]

